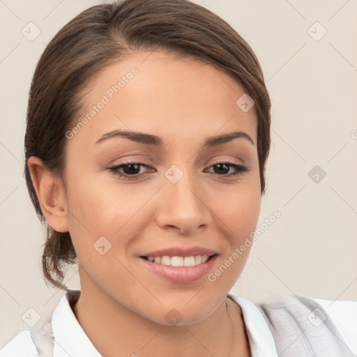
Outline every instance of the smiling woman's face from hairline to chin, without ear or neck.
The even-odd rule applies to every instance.
[[[158,324],[173,308],[193,324],[222,303],[248,258],[261,203],[257,118],[236,105],[245,91],[222,70],[149,54],[91,82],[87,120],[67,135],[66,224],[82,291],[96,287]],[[142,135],[107,135],[115,130]],[[207,144],[232,132],[243,134]],[[215,252],[208,270],[167,278],[142,258],[192,247]]]

